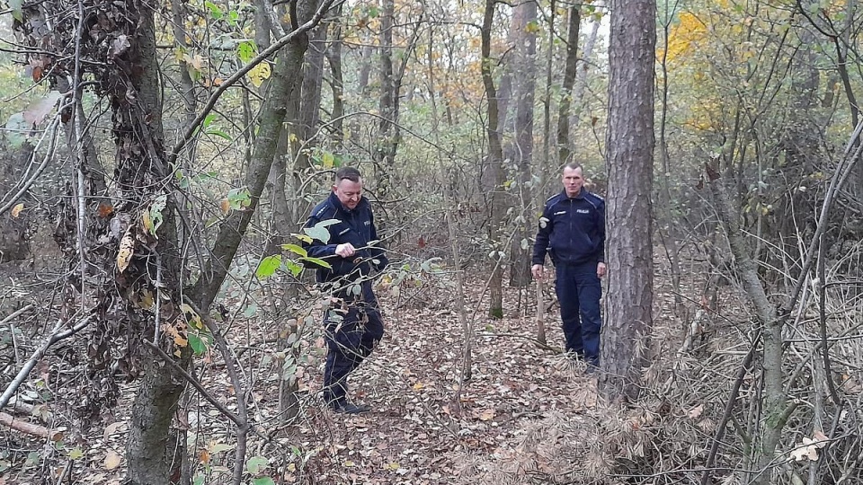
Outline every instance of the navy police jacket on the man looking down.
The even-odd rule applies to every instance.
[[[378,230],[375,228],[375,218],[371,214],[371,204],[368,198],[360,198],[360,203],[353,210],[342,205],[334,192],[323,202],[312,209],[308,216],[306,227],[314,227],[318,223],[335,219],[337,222],[326,226],[330,234],[327,242],[314,240],[304,243],[308,255],[320,258],[330,263],[331,269],[318,268],[317,281],[335,281],[347,277],[356,280],[368,276],[371,269],[383,269],[387,266],[387,256],[382,248],[367,248],[369,242],[378,241]],[[350,242],[357,252],[350,258],[342,258],[335,254],[335,247]],[[364,249],[360,249],[364,248]]]

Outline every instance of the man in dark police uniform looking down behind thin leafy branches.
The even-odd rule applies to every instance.
[[[324,319],[324,401],[336,412],[358,414],[370,408],[348,401],[347,378],[384,336],[369,277],[372,270],[387,266],[387,256],[376,245],[378,232],[369,199],[362,196],[360,171],[342,167],[335,172],[333,192],[308,217],[306,227],[316,226],[325,227],[329,235],[321,238],[325,241],[307,243],[308,256],[331,265],[317,269],[316,278],[340,301]]]

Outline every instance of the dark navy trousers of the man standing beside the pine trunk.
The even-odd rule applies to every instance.
[[[564,323],[566,351],[574,352],[594,365],[600,363],[602,285],[596,263],[555,266],[555,289]]]

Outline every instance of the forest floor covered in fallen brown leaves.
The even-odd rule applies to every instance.
[[[673,316],[672,295],[663,290],[661,280],[657,283],[654,336],[663,336],[657,340],[660,349],[676,348],[683,325]],[[456,401],[464,331],[453,285],[440,280],[401,298],[378,292],[387,334],[351,375],[353,396],[373,408],[357,416],[323,408],[317,392],[323,344],[317,338],[309,346],[318,357],[298,370],[305,395],[298,421],[279,426],[278,382],[271,365],[274,323],[249,320],[245,328],[244,323],[236,324],[229,335],[235,350],[246,350],[241,362],[255,423],[246,454],[246,482],[258,485],[270,483],[270,478],[274,483],[334,484],[614,483],[613,477],[609,479],[612,467],[619,472],[620,463],[634,463],[650,454],[645,433],[655,417],[687,421],[687,428],[697,430],[702,442],[684,443],[683,448],[691,449],[677,451],[703,457],[712,432],[711,421],[701,416],[705,404],[698,408],[698,402],[684,399],[669,405],[667,397],[653,396],[635,411],[612,412],[598,398],[596,377],[584,374],[583,363],[536,344],[537,295],[532,285],[504,287],[505,314],[494,320],[486,316],[485,281],[479,275],[470,278],[466,315],[476,330],[472,375]],[[550,297],[548,288],[546,298]],[[544,314],[552,347],[563,343],[557,311],[554,305]],[[236,390],[216,353],[197,364],[202,383],[228,409],[236,410]],[[63,483],[120,483],[135,384],[123,392],[120,405],[87,431],[75,429],[74,420],[55,413],[54,426],[65,428],[69,436],[65,447],[0,429],[0,443],[11,450],[0,457],[0,465],[6,463],[0,485],[48,482],[49,476],[59,483],[58,474],[66,475]],[[185,403],[191,411],[189,422],[181,426],[189,429],[194,450],[194,483],[227,483],[235,429],[200,396],[190,396]],[[615,442],[617,451],[611,450]],[[610,463],[609,450],[619,455],[621,446],[629,458]],[[66,473],[68,463],[73,466]]]

